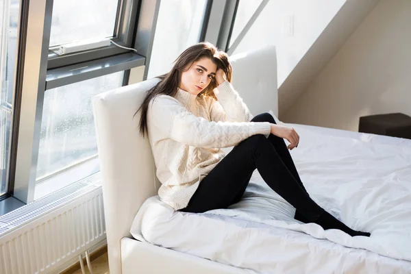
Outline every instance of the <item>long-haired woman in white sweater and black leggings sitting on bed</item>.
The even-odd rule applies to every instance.
[[[297,147],[299,135],[276,125],[270,114],[251,116],[230,84],[226,53],[201,42],[179,55],[160,79],[139,110],[140,132],[149,137],[162,201],[183,212],[227,208],[240,201],[258,169],[266,184],[296,208],[295,219],[370,236],[312,201],[287,150]],[[232,146],[224,155],[221,148]]]

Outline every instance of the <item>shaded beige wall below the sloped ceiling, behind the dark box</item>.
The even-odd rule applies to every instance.
[[[360,116],[411,116],[411,1],[382,0],[282,121],[358,131]]]

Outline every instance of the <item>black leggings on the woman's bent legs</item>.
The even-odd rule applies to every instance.
[[[275,123],[269,113],[251,121]],[[304,188],[286,143],[273,134],[269,138],[254,135],[236,145],[201,181],[188,206],[180,211],[200,213],[237,203],[256,169],[266,184],[308,221],[316,221],[324,212]]]

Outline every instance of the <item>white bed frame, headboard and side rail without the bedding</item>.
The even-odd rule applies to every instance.
[[[252,114],[272,110],[277,116],[277,58],[265,47],[230,58],[233,85]],[[103,185],[105,229],[110,274],[119,273],[249,273],[245,269],[150,245],[132,238],[136,212],[157,195],[153,156],[147,138],[138,132],[145,93],[158,79],[124,86],[92,100]]]

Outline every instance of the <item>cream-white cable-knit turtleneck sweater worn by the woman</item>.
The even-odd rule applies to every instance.
[[[269,136],[270,123],[249,122],[252,116],[232,84],[214,89],[219,101],[178,89],[174,97],[159,95],[149,104],[148,136],[160,199],[175,210],[185,208],[201,179],[232,147],[255,134]]]

